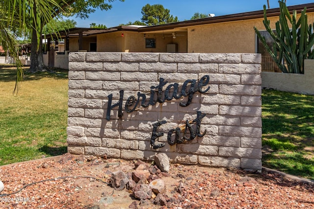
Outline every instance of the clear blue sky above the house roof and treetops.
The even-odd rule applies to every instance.
[[[311,3],[314,0],[287,0],[287,5]],[[267,0],[119,0],[112,3],[108,11],[97,10],[88,19],[70,17],[77,22],[77,27],[90,27],[90,23],[105,24],[107,27],[118,26],[141,20],[141,9],[147,3],[162,4],[177,16],[180,21],[189,20],[195,12],[215,14],[215,16],[230,15],[242,12],[262,10]],[[269,0],[270,8],[279,7],[278,0]]]

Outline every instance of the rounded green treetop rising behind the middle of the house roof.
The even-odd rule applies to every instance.
[[[177,16],[173,17],[173,15],[170,15],[170,10],[165,9],[161,4],[146,4],[142,8],[142,15],[141,20],[146,25],[175,23],[179,21]]]

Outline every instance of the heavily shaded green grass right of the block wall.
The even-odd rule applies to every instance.
[[[262,92],[262,164],[314,180],[314,96]]]

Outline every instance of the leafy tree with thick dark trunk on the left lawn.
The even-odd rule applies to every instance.
[[[13,1],[13,0],[12,0]],[[20,0],[22,1],[22,0]],[[38,0],[45,1],[45,0]],[[51,5],[46,9],[49,12],[39,13],[36,9],[31,13],[31,18],[35,21],[32,21],[28,25],[32,29],[31,33],[31,61],[30,61],[30,72],[35,72],[43,70],[45,65],[43,61],[42,53],[42,41],[41,34],[45,24],[51,23],[53,18],[60,18],[60,15],[73,16],[76,15],[79,18],[88,18],[88,14],[95,12],[95,8],[101,10],[111,9],[112,5],[110,2],[115,0],[46,0],[48,3],[52,1]],[[124,0],[120,0],[124,1]],[[28,4],[33,3],[32,8],[37,8],[37,1],[33,0],[24,0]],[[42,6],[42,5],[41,5]],[[44,17],[46,18],[43,18]],[[37,18],[35,18],[37,17]],[[30,18],[30,17],[28,17]],[[34,27],[36,25],[36,27]],[[54,26],[52,25],[52,28]]]

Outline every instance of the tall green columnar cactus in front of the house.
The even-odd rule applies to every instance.
[[[254,30],[266,48],[270,56],[285,73],[304,73],[304,59],[314,59],[314,34],[312,25],[308,25],[306,7],[301,11],[297,21],[296,11],[293,10],[292,17],[286,3],[278,1],[280,7],[279,21],[276,22],[276,33],[270,28],[270,21],[267,20],[266,6],[264,5],[264,26],[274,40],[274,45],[268,46],[265,37],[254,27]],[[290,28],[289,28],[290,25]],[[286,65],[287,67],[286,67]]]

